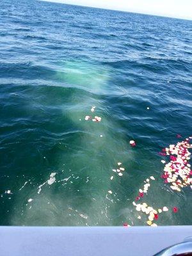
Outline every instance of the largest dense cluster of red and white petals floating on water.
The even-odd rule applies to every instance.
[[[161,177],[165,183],[170,184],[170,188],[176,191],[192,184],[191,165],[188,163],[191,155],[189,148],[192,148],[192,144],[189,143],[190,138],[178,142],[177,145],[163,148],[160,152],[161,156],[170,156],[170,161],[165,164]]]

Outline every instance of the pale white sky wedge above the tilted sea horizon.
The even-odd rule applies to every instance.
[[[192,0],[45,0],[192,20]]]

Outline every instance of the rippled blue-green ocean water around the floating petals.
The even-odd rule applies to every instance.
[[[157,225],[192,225],[158,154],[192,133],[191,24],[1,1],[0,225],[147,225],[132,202],[150,176],[143,202],[170,209]]]

